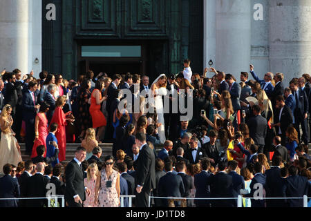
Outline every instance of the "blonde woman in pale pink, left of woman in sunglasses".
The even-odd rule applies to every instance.
[[[96,163],[90,164],[88,166],[88,176],[84,178],[84,186],[86,186],[91,194],[86,194],[86,200],[84,201],[84,207],[97,207],[94,203],[95,199],[95,184],[96,184],[96,177],[98,174],[98,166]]]

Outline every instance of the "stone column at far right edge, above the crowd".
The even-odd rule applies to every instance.
[[[270,0],[270,71],[293,77],[311,71],[311,1]]]

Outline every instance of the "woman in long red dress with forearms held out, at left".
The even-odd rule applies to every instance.
[[[66,104],[67,97],[59,96],[57,101],[55,102],[55,112],[50,121],[50,124],[57,123],[58,128],[55,133],[55,137],[57,138],[57,144],[59,148],[59,162],[66,160],[66,125],[68,120],[69,122],[73,122],[73,119],[67,119],[66,116],[71,115],[71,111],[66,114],[63,111],[63,107]]]

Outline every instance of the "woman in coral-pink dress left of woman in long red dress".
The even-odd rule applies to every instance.
[[[46,137],[48,136],[48,118],[46,118],[46,112],[50,108],[50,105],[43,102],[41,104],[39,113],[35,118],[35,143],[32,146],[31,158],[37,157],[37,146],[44,145],[46,147]],[[46,157],[46,153],[44,153]]]

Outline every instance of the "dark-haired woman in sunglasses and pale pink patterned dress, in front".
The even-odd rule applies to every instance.
[[[100,207],[120,206],[120,173],[113,170],[113,156],[105,157],[105,169],[97,175],[95,204]]]

